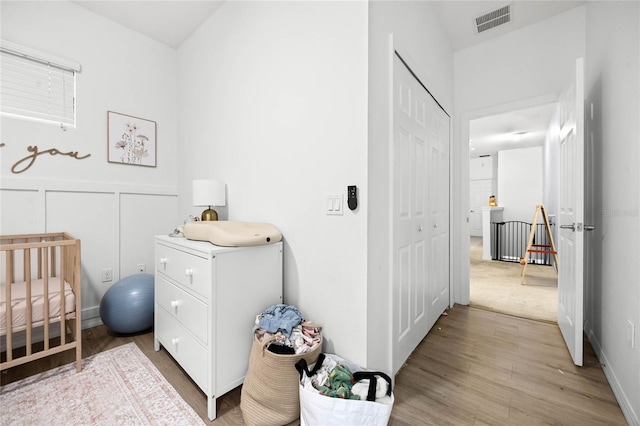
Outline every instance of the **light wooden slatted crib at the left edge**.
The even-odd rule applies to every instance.
[[[0,371],[71,349],[82,370],[81,288],[80,240],[0,236]]]

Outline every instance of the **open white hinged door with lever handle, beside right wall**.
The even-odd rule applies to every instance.
[[[583,357],[584,64],[560,99],[558,325],[573,362]]]

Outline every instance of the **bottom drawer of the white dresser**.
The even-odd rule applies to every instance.
[[[157,309],[155,315],[156,338],[200,389],[208,393],[207,377],[212,367],[207,360],[207,349],[192,338],[186,329],[164,310]]]

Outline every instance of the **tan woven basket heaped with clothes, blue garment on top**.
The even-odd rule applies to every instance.
[[[276,304],[257,315],[240,409],[248,425],[285,425],[300,416],[296,363],[317,361],[322,327],[297,307]]]

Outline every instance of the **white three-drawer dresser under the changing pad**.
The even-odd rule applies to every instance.
[[[256,315],[282,303],[282,242],[219,247],[157,236],[154,348],[162,345],[216,400],[242,384]]]

